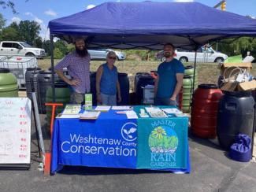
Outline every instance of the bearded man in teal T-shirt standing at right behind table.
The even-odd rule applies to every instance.
[[[165,44],[165,61],[158,66],[158,78],[154,83],[154,105],[177,105],[183,84],[184,65],[174,58],[174,54],[173,44]]]

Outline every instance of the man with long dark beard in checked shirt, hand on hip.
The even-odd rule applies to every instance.
[[[84,39],[79,37],[75,39],[76,50],[68,54],[55,66],[55,72],[58,76],[72,87],[70,102],[81,104],[84,101],[84,94],[90,92],[90,54],[85,47]],[[63,68],[67,68],[68,79],[63,74]]]

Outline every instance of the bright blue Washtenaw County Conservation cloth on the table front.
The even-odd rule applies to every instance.
[[[136,121],[108,113],[98,120],[55,120],[51,172],[61,165],[136,168]]]

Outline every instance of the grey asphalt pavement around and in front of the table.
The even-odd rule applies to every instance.
[[[45,116],[40,116],[45,123]],[[46,149],[49,136],[43,127]],[[214,142],[189,135],[190,174],[117,168],[65,167],[44,176],[32,124],[32,161],[29,170],[1,170],[0,192],[12,191],[256,191],[256,163],[232,161]]]

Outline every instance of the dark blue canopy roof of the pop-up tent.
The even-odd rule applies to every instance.
[[[172,42],[195,50],[219,39],[256,36],[256,20],[198,2],[106,2],[50,20],[49,28],[68,42],[83,35],[91,48],[161,50]]]

